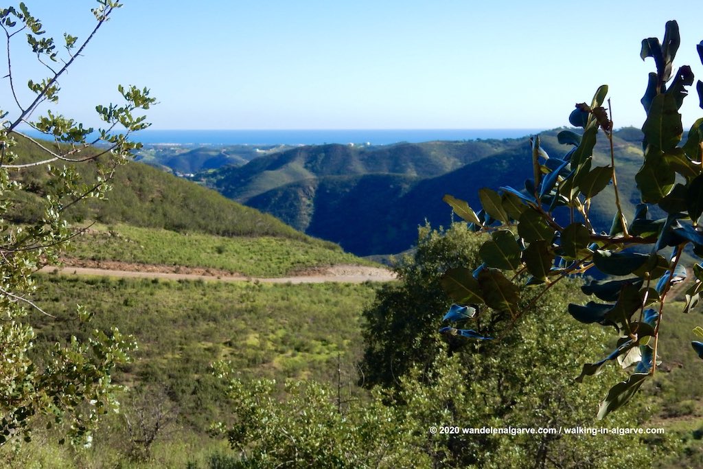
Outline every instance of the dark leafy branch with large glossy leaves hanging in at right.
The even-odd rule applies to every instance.
[[[514,324],[525,311],[518,309],[521,288],[540,285],[544,291],[567,276],[599,271],[606,280],[583,285],[595,300],[569,304],[569,313],[582,323],[599,323],[618,333],[617,347],[605,358],[584,364],[577,381],[597,374],[617,359],[632,370],[627,380],[614,385],[600,403],[598,418],[626,403],[657,370],[659,330],[671,285],[687,275],[679,261],[692,247],[703,257],[703,118],[697,120],[685,141],[679,110],[693,84],[685,65],[673,72],[680,44],[676,21],[666,23],[664,39],[642,41],[640,56],[654,58],[641,102],[647,113],[642,131],[644,159],[636,175],[641,203],[628,222],[621,208],[613,151],[612,117],[603,107],[607,86],[600,86],[591,104],[580,103],[569,122],[583,131],[561,131],[558,140],[572,148],[562,157],[550,158],[531,139],[533,177],[524,188],[479,190],[482,209],[472,210],[463,200],[445,195],[454,212],[475,231],[488,231],[491,240],[480,248],[482,264],[475,270],[460,267],[446,271],[442,280],[447,293],[466,307],[453,307],[447,321],[470,321],[478,304],[502,311]],[[703,62],[703,41],[697,46]],[[703,108],[703,82],[697,82]],[[610,103],[609,103],[610,106]],[[596,139],[610,141],[610,165],[595,166]],[[610,231],[596,232],[589,219],[593,198],[612,183],[615,213]],[[650,210],[657,206],[657,210]],[[650,219],[647,212],[665,214]],[[562,221],[565,220],[565,221]],[[692,266],[694,282],[686,291],[684,312],[695,307],[703,292],[703,264]],[[612,276],[618,277],[612,279]],[[470,306],[473,305],[473,306]],[[445,327],[451,335],[485,340],[472,329]],[[703,335],[703,329],[696,333]],[[703,358],[703,343],[692,342]]]

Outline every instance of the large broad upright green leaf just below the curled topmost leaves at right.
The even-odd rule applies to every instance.
[[[647,120],[642,126],[647,145],[664,152],[676,148],[681,141],[683,124],[678,113],[676,98],[670,94],[658,94],[652,100]],[[646,161],[646,156],[645,156]]]

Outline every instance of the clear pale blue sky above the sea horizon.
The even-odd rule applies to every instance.
[[[93,27],[91,0],[26,3],[55,36]],[[639,127],[654,68],[640,41],[671,19],[675,65],[703,78],[703,13],[683,1],[124,0],[59,110],[91,122],[122,83],[158,98],[155,129],[548,129],[609,84],[616,127]],[[695,86],[688,101],[685,124],[703,115]]]

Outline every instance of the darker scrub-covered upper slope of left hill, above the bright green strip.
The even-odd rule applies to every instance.
[[[21,138],[14,150],[23,161],[41,158],[41,150]],[[83,174],[95,171],[92,162],[76,167]],[[19,222],[38,219],[41,217],[40,195],[47,190],[44,184],[46,169],[27,169],[22,172],[20,180],[25,191],[15,201],[12,219]],[[119,167],[112,187],[108,200],[89,200],[74,205],[70,207],[70,217],[219,236],[279,236],[321,243],[269,214],[244,207],[198,184],[138,162]]]

